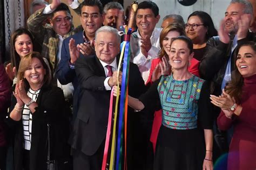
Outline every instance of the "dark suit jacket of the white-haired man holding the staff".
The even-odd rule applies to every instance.
[[[93,155],[106,137],[111,91],[105,90],[105,71],[95,55],[78,58],[75,66],[81,98],[70,142],[73,148]],[[145,85],[137,65],[130,63],[129,75],[129,94],[138,98]]]

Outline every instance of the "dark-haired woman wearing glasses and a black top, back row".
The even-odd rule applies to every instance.
[[[187,18],[186,34],[193,42],[194,58],[201,60],[206,50],[206,42],[213,36],[218,36],[212,18],[204,11],[194,11]]]

